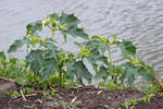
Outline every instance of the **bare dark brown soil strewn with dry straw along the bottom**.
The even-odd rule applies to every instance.
[[[58,96],[45,97],[42,90],[36,90],[30,95],[25,95],[25,99],[23,97],[13,99],[2,93],[10,89],[17,89],[17,86],[10,80],[0,78],[0,109],[73,109],[73,105],[79,109],[108,109],[105,106],[123,108],[122,102],[125,99],[143,97],[142,92],[131,88],[106,90],[85,86],[57,89]],[[163,109],[163,96],[152,97],[149,105],[138,102],[136,109]]]

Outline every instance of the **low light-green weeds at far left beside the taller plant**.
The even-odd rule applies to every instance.
[[[24,60],[5,58],[4,52],[0,52],[0,76],[12,78],[18,85],[32,85],[36,82],[36,76],[26,68]]]

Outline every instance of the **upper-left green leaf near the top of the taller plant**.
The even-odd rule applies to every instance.
[[[26,26],[26,34],[37,34],[37,32],[42,31],[42,21],[32,22]]]

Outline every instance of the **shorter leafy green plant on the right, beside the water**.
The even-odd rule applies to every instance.
[[[121,82],[122,85],[125,84],[126,86],[133,86],[135,75],[139,74],[147,81],[154,83],[155,77],[153,69],[140,59],[136,58],[136,47],[131,41],[117,39],[115,36],[113,36],[112,39],[92,36],[90,40],[83,44],[76,43],[76,45],[89,50],[89,53],[84,58],[92,64],[96,71],[96,78],[103,78],[106,81],[111,77],[115,84]],[[124,59],[128,61],[120,65],[115,65],[112,61],[110,50],[112,45],[117,46],[121,49]],[[106,52],[108,56],[105,56]],[[101,61],[102,64],[99,65],[99,61]]]

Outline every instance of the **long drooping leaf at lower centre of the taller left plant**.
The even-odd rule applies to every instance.
[[[58,63],[53,58],[49,58],[43,61],[43,66],[42,66],[43,71],[41,72],[42,82],[48,80],[50,75],[52,74],[52,72],[55,72],[57,64]]]

